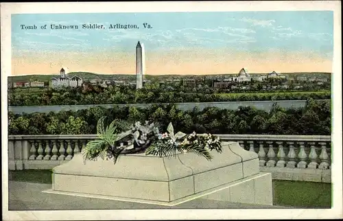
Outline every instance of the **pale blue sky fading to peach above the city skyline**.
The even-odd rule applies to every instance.
[[[117,23],[138,29],[109,28]],[[138,41],[150,75],[332,71],[331,11],[12,14],[11,24],[12,75],[134,74]]]

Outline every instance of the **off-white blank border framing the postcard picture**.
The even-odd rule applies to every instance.
[[[11,73],[11,14],[97,12],[201,12],[201,11],[289,11],[334,12],[333,51],[333,209],[163,209],[104,211],[8,211],[7,76]],[[3,220],[156,220],[156,219],[279,219],[342,218],[342,51],[340,1],[203,1],[120,3],[1,3],[1,113]],[[301,189],[299,189],[301,191]]]

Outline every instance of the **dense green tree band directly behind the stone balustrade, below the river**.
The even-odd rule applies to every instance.
[[[173,104],[136,107],[93,107],[58,113],[8,114],[9,135],[95,134],[100,117],[158,122],[165,130],[169,122],[176,131],[211,134],[331,135],[331,102],[309,99],[303,108],[284,109],[274,104],[269,112],[250,106],[237,110],[205,108],[178,110]]]

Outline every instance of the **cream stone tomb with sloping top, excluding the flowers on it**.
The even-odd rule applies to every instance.
[[[75,154],[54,167],[52,189],[45,192],[169,206],[194,198],[272,205],[272,176],[259,172],[257,154],[236,142],[222,143],[222,149],[211,151],[211,161],[186,152],[84,164],[82,154]]]

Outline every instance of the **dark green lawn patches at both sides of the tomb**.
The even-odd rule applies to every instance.
[[[9,171],[10,181],[51,184],[51,170]],[[331,208],[331,183],[273,181],[274,205]]]

